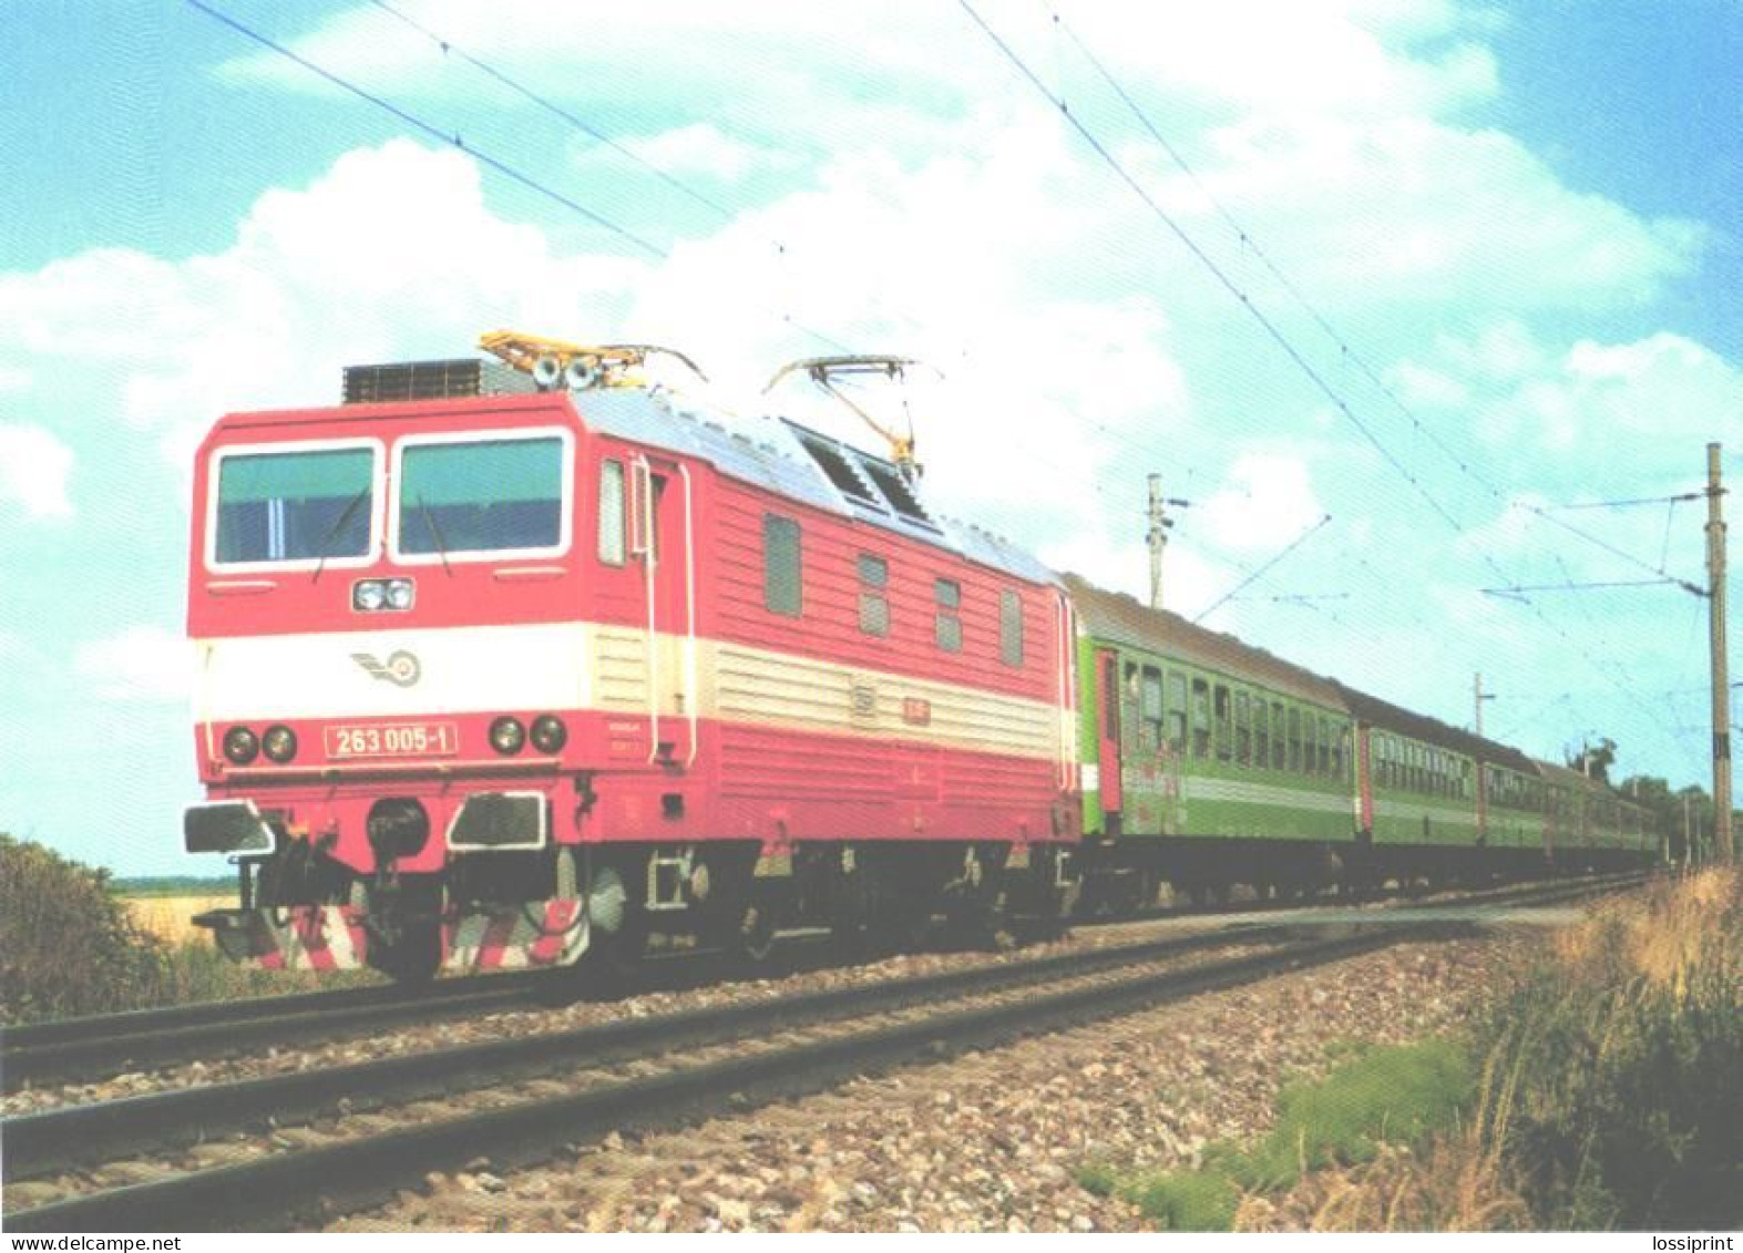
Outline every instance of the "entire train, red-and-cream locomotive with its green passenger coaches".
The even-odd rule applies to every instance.
[[[183,838],[237,863],[200,922],[239,960],[760,957],[1051,922],[1079,868],[1129,906],[1652,856],[1572,772],[938,518],[912,443],[730,434],[645,345],[523,342],[199,450]]]

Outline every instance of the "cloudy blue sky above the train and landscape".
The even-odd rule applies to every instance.
[[[190,3],[0,5],[0,828],[211,870],[193,444],[502,324],[669,342],[746,420],[830,342],[919,356],[952,512],[1142,591],[1159,471],[1189,615],[1330,514],[1206,622],[1710,781],[1705,601],[1485,589],[1705,582],[1701,505],[1560,507],[1689,491],[1710,439],[1743,477],[1734,0],[976,3],[1149,200],[959,3],[211,7],[467,152]]]

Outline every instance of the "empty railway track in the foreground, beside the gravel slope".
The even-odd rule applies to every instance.
[[[1555,885],[1513,899],[1553,903],[1605,887]],[[535,1161],[626,1124],[816,1091],[866,1068],[1081,1025],[1448,927],[1468,934],[1468,925],[1440,920],[1346,925],[1309,941],[1285,925],[1182,936],[10,1119],[0,1124],[9,1183],[75,1166],[94,1154],[92,1145],[108,1157],[167,1150],[174,1159],[190,1140],[246,1136],[267,1119],[282,1128],[406,1101],[437,1105],[378,1133],[366,1126],[216,1169],[19,1209],[5,1225],[17,1232],[284,1227],[370,1204],[431,1169],[481,1155],[493,1164]],[[1238,945],[1260,952],[1187,967],[1175,960]],[[1173,964],[1157,969],[1159,962]],[[685,1056],[673,1058],[680,1049]],[[591,1077],[540,1079],[575,1067]],[[518,1091],[500,1094],[495,1108],[439,1108],[460,1089],[504,1080]]]

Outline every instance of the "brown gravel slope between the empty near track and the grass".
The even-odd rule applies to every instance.
[[[1333,1042],[1454,1026],[1541,943],[1401,945],[512,1175],[474,1162],[333,1229],[1136,1230],[1131,1206],[1077,1185],[1084,1162],[1185,1166],[1253,1136]]]

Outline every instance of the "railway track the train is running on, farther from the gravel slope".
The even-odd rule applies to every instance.
[[[1640,875],[1607,875],[1565,887],[1600,891],[1638,882]],[[1546,891],[1544,885],[1501,887],[1455,897],[1454,904],[1508,901]],[[1290,913],[1337,908],[1339,903],[1260,901],[1238,906],[1238,913]],[[1215,918],[1213,911],[1149,910],[1126,917],[1084,918],[1081,927],[1117,925],[1166,918]],[[704,967],[706,967],[706,953]],[[767,974],[788,974],[826,960],[816,952],[790,952]],[[711,969],[676,969],[673,960],[648,964],[636,992],[694,986],[720,978]],[[523,1009],[549,983],[544,974],[507,974],[437,981],[422,988],[347,988],[234,1002],[206,1002],[125,1014],[73,1018],[0,1032],[0,1091],[12,1094],[45,1082],[98,1080],[124,1070],[171,1067],[192,1060],[246,1056],[286,1040],[312,1044],[363,1032],[471,1018]]]

